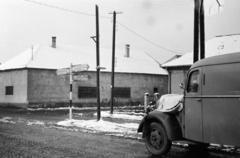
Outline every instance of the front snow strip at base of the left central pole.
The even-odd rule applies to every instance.
[[[80,127],[97,132],[135,134],[137,132],[137,123],[114,123],[109,121],[96,120],[64,120],[57,123],[60,126]]]

